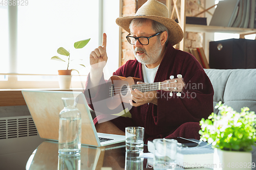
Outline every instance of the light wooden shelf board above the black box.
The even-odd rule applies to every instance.
[[[187,32],[210,32],[210,33],[219,32],[219,33],[233,33],[233,34],[242,34],[242,35],[249,35],[249,34],[256,33],[256,29],[219,27],[219,26],[203,26],[203,25],[191,25],[191,24],[186,24],[185,31],[187,31]]]

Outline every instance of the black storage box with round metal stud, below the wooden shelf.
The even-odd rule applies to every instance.
[[[256,68],[256,40],[211,41],[209,66],[216,69]]]

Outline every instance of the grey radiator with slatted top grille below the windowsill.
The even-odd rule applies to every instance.
[[[0,169],[25,170],[40,138],[31,116],[0,118]]]

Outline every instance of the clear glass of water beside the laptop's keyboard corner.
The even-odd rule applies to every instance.
[[[143,152],[144,149],[144,128],[125,128],[125,150],[129,152]]]

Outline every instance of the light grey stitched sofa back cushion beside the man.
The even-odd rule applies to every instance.
[[[214,87],[214,106],[221,101],[237,112],[249,107],[256,112],[256,69],[205,69]],[[214,109],[216,114],[218,109]]]

